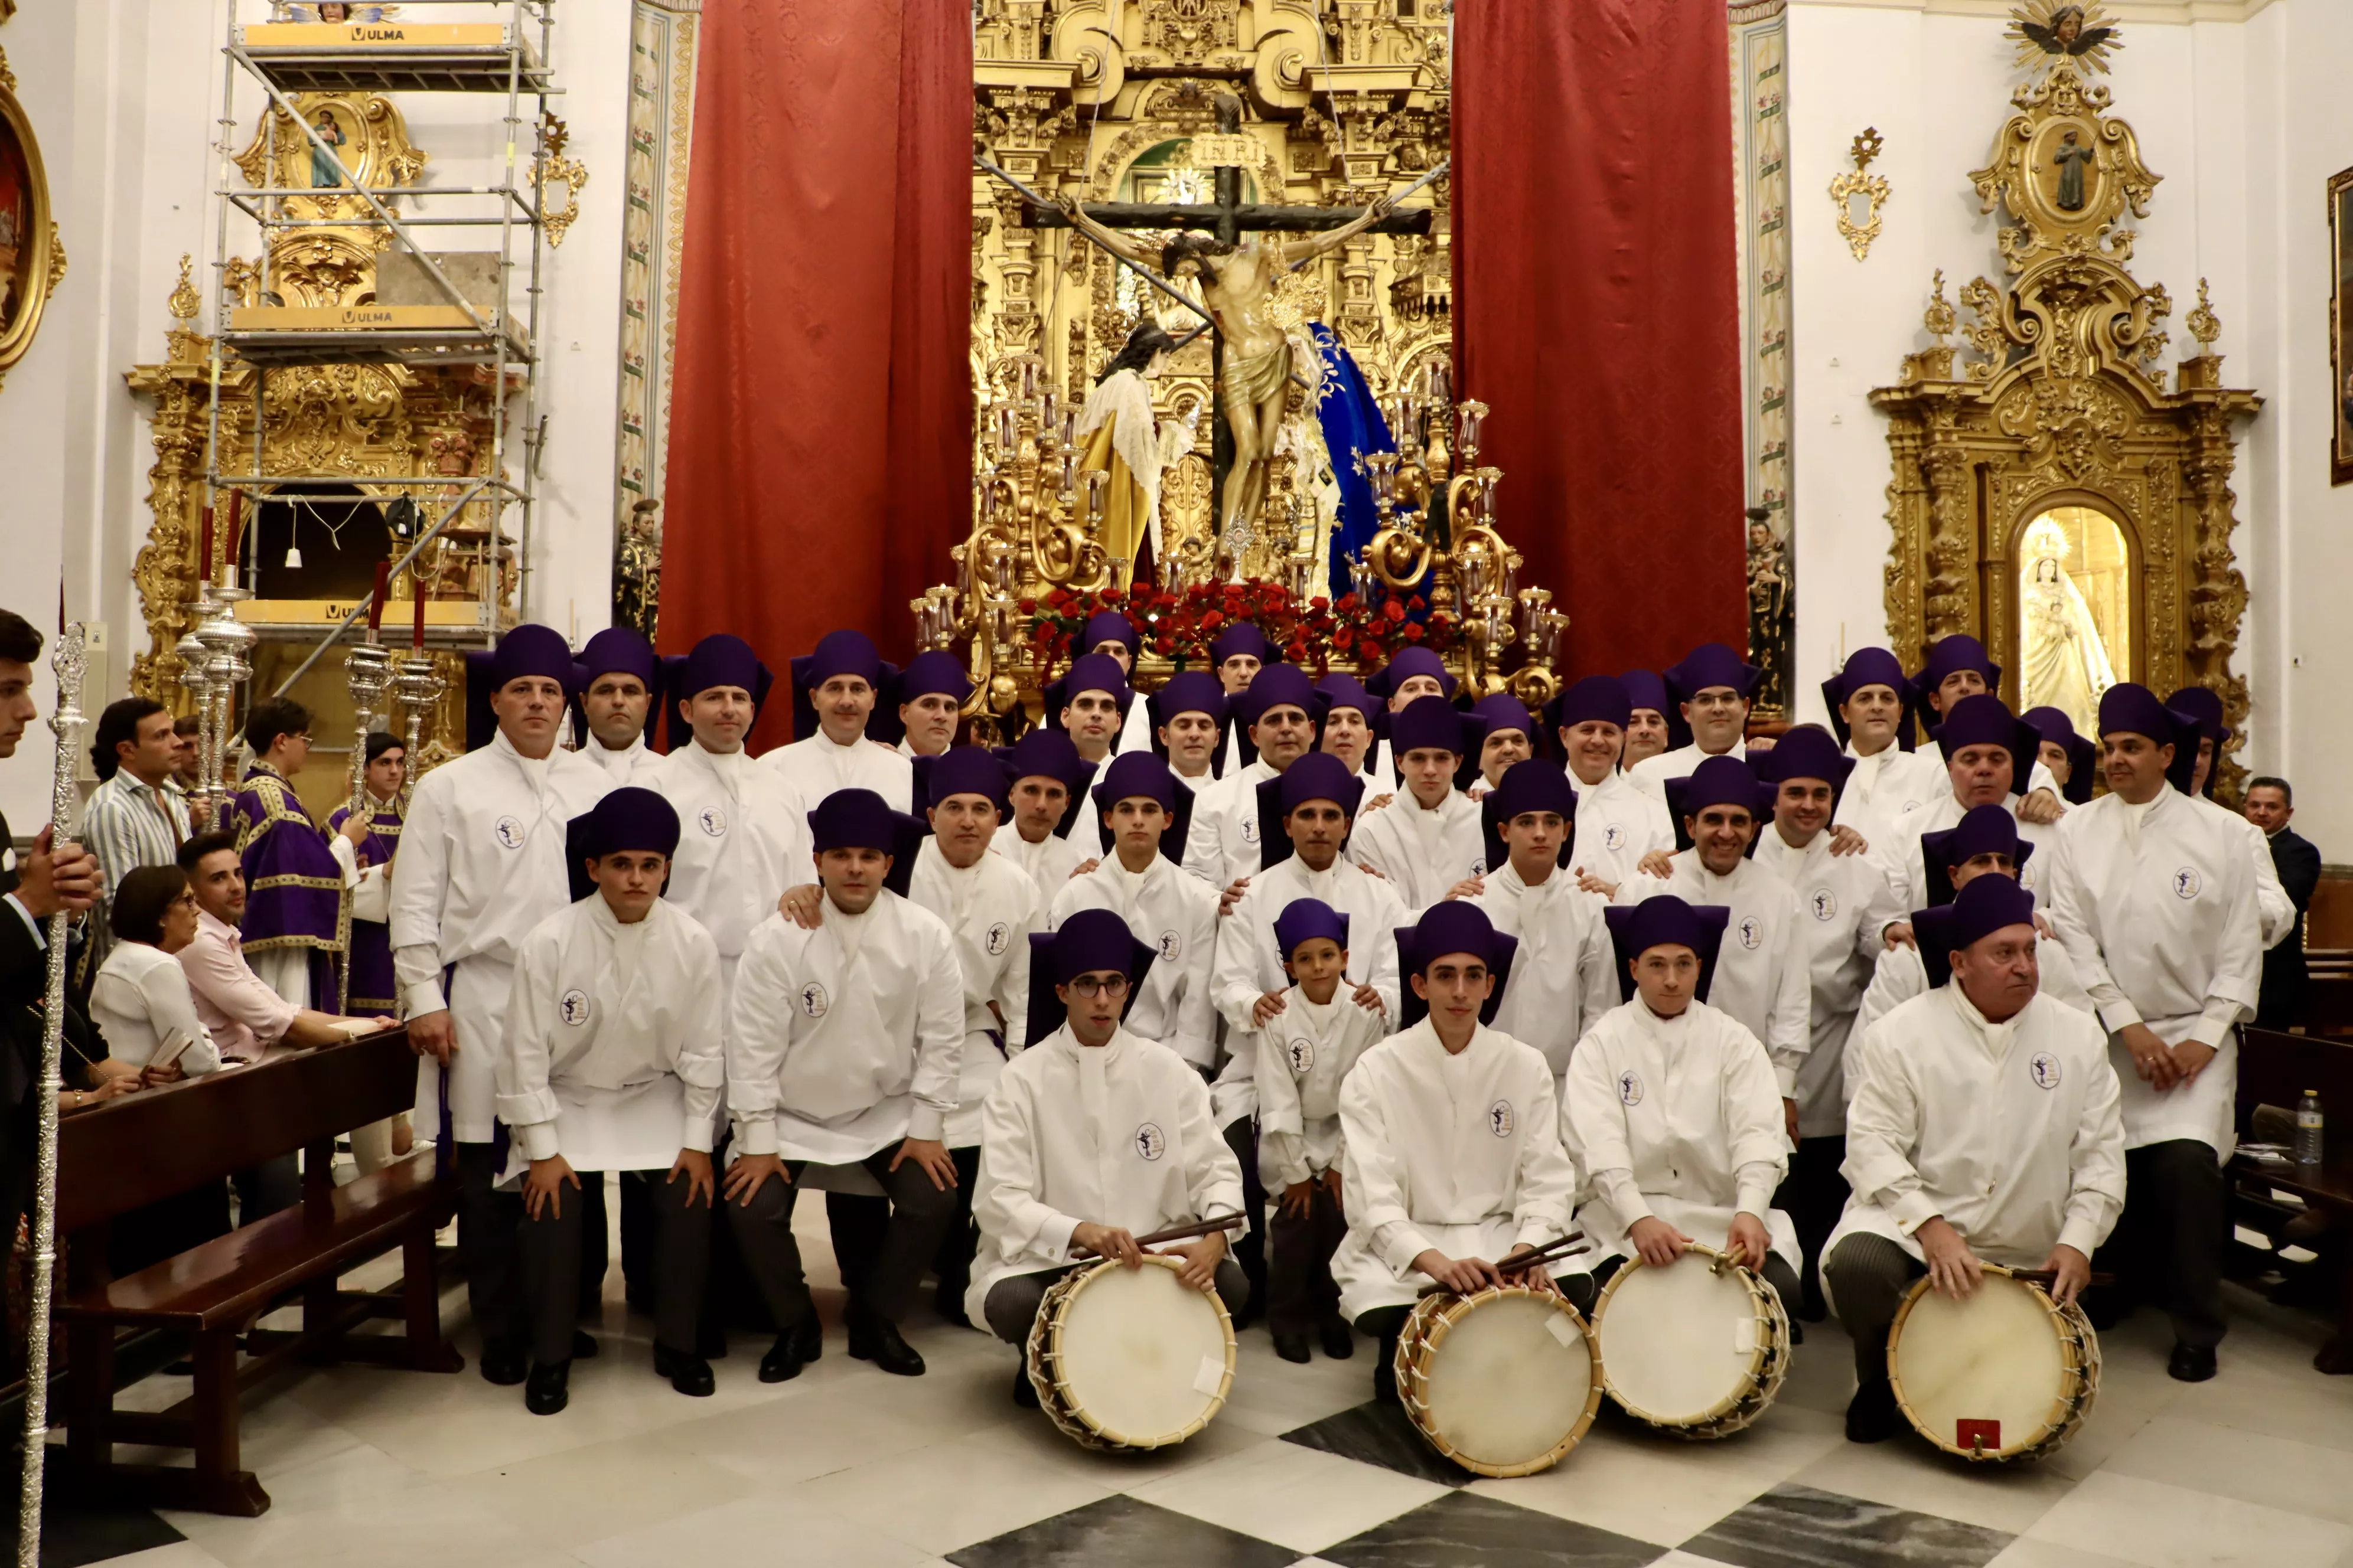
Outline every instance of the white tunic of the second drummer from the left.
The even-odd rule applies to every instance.
[[[1497,1262],[1569,1229],[1577,1168],[1560,1147],[1553,1070],[1511,1034],[1480,1025],[1459,1056],[1428,1018],[1391,1034],[1339,1086],[1339,1126],[1344,1316],[1414,1305],[1431,1284],[1414,1272],[1426,1251]]]

